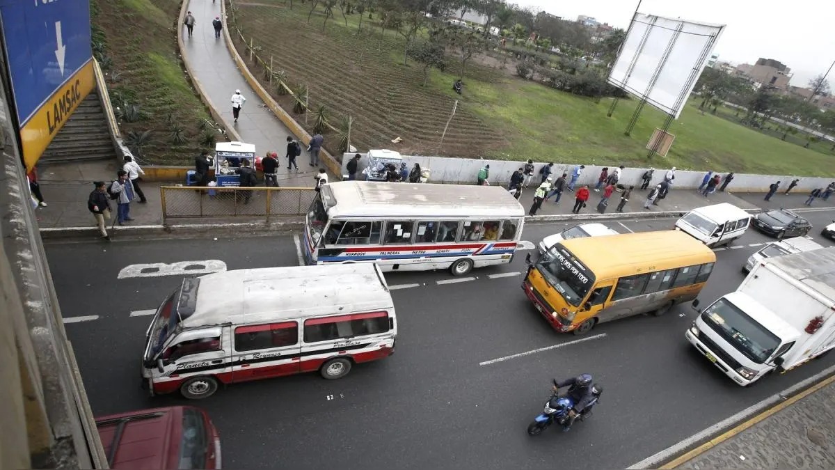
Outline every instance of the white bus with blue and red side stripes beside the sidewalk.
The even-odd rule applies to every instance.
[[[383,271],[510,263],[524,208],[499,186],[338,181],[307,212],[307,264],[377,263]]]

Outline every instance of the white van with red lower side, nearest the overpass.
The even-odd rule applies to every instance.
[[[376,264],[240,269],[185,278],[146,334],[151,395],[318,371],[326,379],[394,352],[394,304]]]

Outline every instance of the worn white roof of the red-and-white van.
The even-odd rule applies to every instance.
[[[184,328],[393,308],[373,263],[237,269],[199,280],[195,312],[183,319]]]

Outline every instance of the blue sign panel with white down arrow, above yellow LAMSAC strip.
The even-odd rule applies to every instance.
[[[89,0],[0,0],[6,57],[23,127],[93,57]]]

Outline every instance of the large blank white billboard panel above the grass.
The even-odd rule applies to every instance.
[[[678,118],[723,28],[635,13],[609,83]]]

